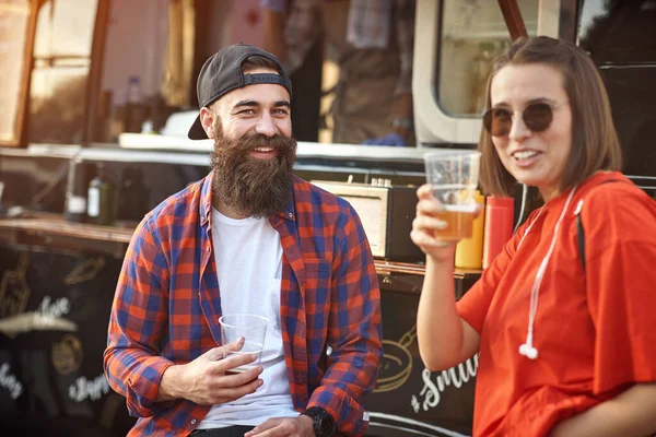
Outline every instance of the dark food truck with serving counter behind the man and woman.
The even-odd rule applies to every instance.
[[[409,232],[423,155],[475,149],[492,59],[518,35],[549,35],[599,67],[623,172],[655,197],[654,23],[655,0],[417,0],[412,147],[332,143],[319,119],[335,63],[315,47],[294,73],[311,90],[293,101],[311,108],[295,111],[295,172],[356,208],[379,276],[368,436],[471,435],[478,358],[431,373],[419,357],[423,258]],[[209,170],[212,143],[185,138],[202,62],[261,45],[261,26],[257,0],[0,0],[0,428],[120,436],[133,424],[102,362],[122,256],[148,211]],[[91,189],[107,202],[92,216]],[[539,205],[519,191],[517,206]],[[456,270],[457,297],[480,273]]]

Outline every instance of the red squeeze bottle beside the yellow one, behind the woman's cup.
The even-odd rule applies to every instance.
[[[485,199],[483,269],[487,269],[492,263],[513,236],[514,217],[514,198],[489,196]]]

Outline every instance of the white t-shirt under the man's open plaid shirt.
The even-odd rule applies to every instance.
[[[284,365],[280,328],[282,246],[267,218],[235,220],[212,208],[212,243],[219,276],[221,311],[249,312],[269,320],[255,393],[213,405],[198,429],[257,426],[270,417],[295,417]]]

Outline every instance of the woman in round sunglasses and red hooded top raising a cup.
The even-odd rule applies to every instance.
[[[475,436],[655,433],[656,202],[619,173],[599,73],[574,45],[524,38],[495,61],[487,106],[483,190],[512,196],[522,182],[544,205],[455,303],[457,241],[434,237],[447,225],[442,205],[430,186],[418,190],[424,365],[435,371],[480,354]]]

